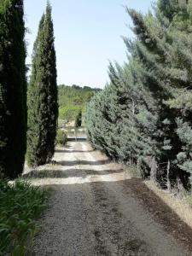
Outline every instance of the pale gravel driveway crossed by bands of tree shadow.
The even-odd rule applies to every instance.
[[[54,160],[26,174],[32,183],[54,189],[34,255],[192,255],[143,206],[122,166],[88,143],[68,143]]]

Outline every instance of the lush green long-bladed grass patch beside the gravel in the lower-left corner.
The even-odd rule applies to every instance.
[[[30,255],[48,191],[16,180],[0,180],[0,255]]]

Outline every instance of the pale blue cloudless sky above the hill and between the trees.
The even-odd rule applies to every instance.
[[[27,63],[46,0],[24,0]],[[108,61],[126,60],[120,36],[131,37],[131,20],[124,6],[148,11],[151,0],[52,0],[55,26],[58,84],[104,87],[108,80]]]

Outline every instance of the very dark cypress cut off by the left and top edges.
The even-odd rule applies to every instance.
[[[0,173],[17,177],[26,154],[26,48],[22,0],[0,1]]]

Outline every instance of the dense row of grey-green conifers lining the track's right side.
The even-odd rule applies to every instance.
[[[127,63],[109,65],[110,83],[89,103],[90,142],[167,189],[189,189],[192,1],[158,0],[147,15],[126,11],[136,38],[124,38]]]

